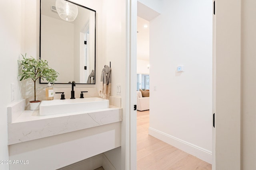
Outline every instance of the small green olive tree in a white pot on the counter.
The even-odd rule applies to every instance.
[[[22,54],[21,54],[22,55]],[[39,109],[40,100],[36,100],[36,80],[41,78],[54,83],[58,77],[58,72],[48,66],[48,61],[42,59],[27,58],[22,55],[23,60],[19,61],[20,81],[31,78],[34,82],[34,101],[30,101],[30,109]],[[36,106],[34,106],[36,105]]]

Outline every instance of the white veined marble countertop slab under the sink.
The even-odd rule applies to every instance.
[[[8,123],[8,145],[69,133],[109,123],[122,121],[122,108],[39,115],[39,110],[24,110]]]

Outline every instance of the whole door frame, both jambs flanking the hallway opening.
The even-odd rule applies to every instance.
[[[212,1],[212,3],[214,0]],[[126,170],[136,169],[136,14],[137,1],[126,1],[127,153]],[[231,15],[232,14],[232,15]],[[213,19],[212,170],[241,167],[241,0],[215,0]],[[134,74],[136,75],[136,74]],[[135,100],[134,100],[135,99]],[[231,128],[232,127],[232,128]],[[235,162],[235,163],[234,163]]]

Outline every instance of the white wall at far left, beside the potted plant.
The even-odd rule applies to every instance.
[[[10,15],[10,11],[12,14]],[[18,64],[20,53],[24,52],[24,1],[0,1],[0,51],[2,62],[0,98],[0,160],[9,160],[7,145],[7,106],[20,100],[18,88]],[[14,101],[11,102],[11,86],[14,83]],[[7,164],[0,164],[1,170],[8,170]]]

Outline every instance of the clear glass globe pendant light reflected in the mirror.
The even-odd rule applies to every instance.
[[[62,20],[74,21],[78,14],[78,8],[75,4],[66,0],[56,0],[56,10]]]

